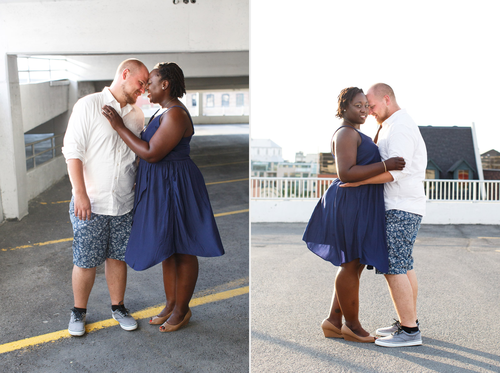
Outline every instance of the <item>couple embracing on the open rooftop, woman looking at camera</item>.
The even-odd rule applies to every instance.
[[[359,131],[367,115],[379,124],[374,140]],[[387,84],[374,84],[366,94],[343,89],[335,116],[342,119],[331,140],[338,179],[319,200],[302,238],[309,250],[339,266],[330,312],[321,323],[324,336],[384,347],[421,345],[412,250],[425,215],[425,143]],[[365,265],[385,276],[398,317],[376,330],[381,338],[358,319]]]

